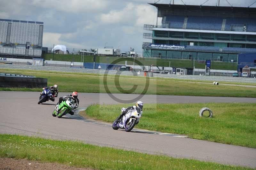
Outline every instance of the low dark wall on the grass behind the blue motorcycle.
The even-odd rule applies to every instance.
[[[47,79],[15,77],[15,76],[0,76],[0,87],[43,88],[43,87],[47,87]]]

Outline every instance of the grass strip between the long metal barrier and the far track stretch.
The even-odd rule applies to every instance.
[[[10,72],[9,70],[0,69],[1,72]],[[47,78],[48,86],[58,84],[60,92],[89,92],[89,93],[106,93],[102,76],[92,76],[84,73],[61,73],[61,72],[44,72],[35,71],[26,73],[26,71],[13,71],[12,73],[29,74],[36,77]],[[169,80],[169,79],[165,79]],[[140,94],[145,87],[145,77],[120,77],[120,86],[115,85],[115,77],[108,76],[107,84],[111,93],[120,93],[119,89],[132,89],[133,85],[138,88],[132,92]],[[127,83],[129,82],[129,83]],[[0,88],[2,91],[28,91],[28,89],[11,89]],[[41,91],[33,89],[32,91]],[[129,92],[126,92],[129,93]],[[256,90],[252,87],[239,86],[214,86],[212,84],[190,83],[184,81],[160,81],[150,79],[149,88],[146,94],[154,95],[182,95],[182,96],[220,96],[220,97],[256,97]]]

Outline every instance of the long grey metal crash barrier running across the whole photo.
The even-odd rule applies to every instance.
[[[0,68],[6,69],[26,69],[26,70],[43,70],[43,71],[61,71],[61,72],[74,72],[74,73],[93,73],[93,74],[104,74],[106,70],[97,69],[82,69],[82,68],[66,68],[66,67],[47,67],[47,66],[27,66],[27,65],[2,65]],[[140,72],[123,72],[123,71],[107,71],[108,74],[121,74],[126,76],[144,76],[144,73]],[[157,73],[146,73],[149,77],[159,78],[172,78],[172,79],[183,79],[183,80],[205,80],[205,81],[228,81],[228,82],[244,82],[244,83],[256,83],[256,78],[245,78],[245,77],[221,77],[221,76],[198,76],[198,75],[176,75],[176,74],[157,74]]]

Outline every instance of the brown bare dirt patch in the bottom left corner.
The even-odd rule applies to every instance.
[[[27,159],[12,159],[12,158],[0,158],[1,170],[92,170],[90,168],[77,168],[74,166],[67,166],[58,163],[40,163],[38,161],[32,161]]]

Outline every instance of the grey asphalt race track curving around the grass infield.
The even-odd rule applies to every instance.
[[[59,96],[68,93],[59,93]],[[138,95],[115,94],[123,99]],[[79,115],[52,117],[57,102],[37,104],[39,92],[0,91],[0,133],[41,136],[52,139],[79,140],[100,146],[110,146],[149,154],[164,154],[175,158],[193,158],[229,165],[256,167],[256,149],[212,143],[147,131],[113,130],[110,124],[86,120]],[[79,107],[92,103],[117,104],[108,94],[79,93]],[[145,95],[144,103],[206,103],[250,102],[255,98],[189,97]],[[249,137],[249,136],[248,136]]]

